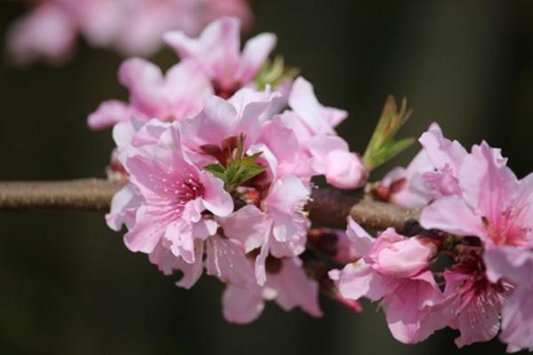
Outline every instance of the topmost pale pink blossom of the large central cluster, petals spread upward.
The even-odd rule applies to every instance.
[[[240,27],[239,20],[222,18],[212,22],[197,39],[183,31],[172,31],[164,35],[164,41],[181,59],[202,67],[215,92],[227,99],[255,78],[276,43],[273,34],[261,34],[251,38],[241,53]]]

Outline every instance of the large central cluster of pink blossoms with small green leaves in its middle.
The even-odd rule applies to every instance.
[[[312,178],[354,189],[368,172],[335,132],[346,111],[322,106],[311,83],[268,62],[274,35],[241,51],[239,29],[223,18],[198,38],[166,33],[181,59],[166,74],[145,59],[123,62],[130,99],[104,102],[88,119],[113,126],[109,176],[128,181],[107,224],[126,225],[126,246],[165,274],[182,272],[180,287],[204,270],[226,283],[229,321],[256,319],[266,300],[320,316],[321,282],[301,257]]]

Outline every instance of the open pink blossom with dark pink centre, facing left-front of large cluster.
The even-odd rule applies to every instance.
[[[214,221],[203,218],[203,210],[227,216],[233,201],[223,182],[198,170],[180,145],[179,130],[171,128],[162,134],[153,156],[128,157],[130,184],[144,201],[124,241],[132,251],[151,253],[163,238],[174,255],[194,263],[195,238],[206,238],[217,228]]]

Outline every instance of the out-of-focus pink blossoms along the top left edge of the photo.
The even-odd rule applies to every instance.
[[[20,0],[24,1],[24,0]],[[248,0],[30,0],[31,11],[12,24],[7,50],[15,63],[36,59],[60,64],[76,46],[76,36],[95,47],[125,55],[149,55],[165,31],[197,35],[220,16],[249,25]],[[34,4],[35,3],[35,4]]]

